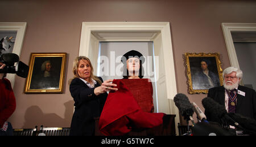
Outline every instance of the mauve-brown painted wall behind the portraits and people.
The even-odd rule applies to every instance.
[[[206,94],[188,94],[184,53],[220,53],[222,68],[230,66],[221,23],[256,23],[255,1],[0,1],[0,21],[27,22],[20,60],[30,53],[68,53],[63,94],[24,94],[26,79],[16,77],[16,110],[9,121],[14,128],[69,127],[73,99],[68,79],[79,54],[84,21],[168,21],[171,25],[177,92],[201,108]],[[3,7],[4,6],[4,7]]]

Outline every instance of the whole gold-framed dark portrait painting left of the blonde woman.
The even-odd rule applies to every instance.
[[[63,93],[67,53],[31,53],[24,93]]]

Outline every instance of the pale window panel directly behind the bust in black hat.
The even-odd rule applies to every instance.
[[[121,57],[130,50],[141,53],[146,62],[142,64],[143,79],[150,79],[153,88],[154,113],[158,113],[158,97],[156,89],[154,44],[152,41],[143,42],[100,42],[97,76],[107,79],[123,79],[123,63]],[[103,59],[101,59],[103,58]],[[158,59],[157,59],[158,60]],[[100,69],[99,69],[100,68]]]

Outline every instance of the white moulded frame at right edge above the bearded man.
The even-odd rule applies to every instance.
[[[256,23],[222,23],[221,26],[224,33],[230,64],[233,67],[240,68],[231,32],[256,31]]]

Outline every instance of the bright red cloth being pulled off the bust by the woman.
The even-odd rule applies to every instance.
[[[125,135],[133,128],[152,128],[163,123],[164,113],[146,113],[122,80],[114,80],[118,91],[110,92],[99,127],[104,135]]]

